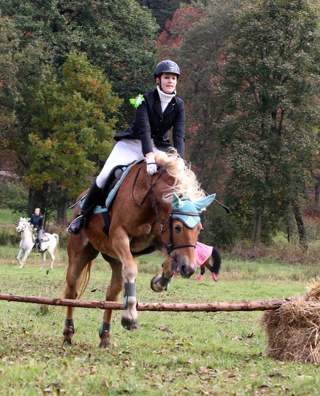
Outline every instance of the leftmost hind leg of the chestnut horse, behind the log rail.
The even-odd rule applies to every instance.
[[[87,274],[90,276],[92,260],[94,260],[98,254],[99,251],[94,249],[83,233],[79,235],[70,235],[68,242],[69,264],[66,275],[67,285],[64,298],[76,299],[79,296],[78,288],[86,286],[84,283],[87,279]],[[74,307],[67,307],[66,320],[63,328],[63,344],[72,344],[72,337],[75,332],[73,311]]]

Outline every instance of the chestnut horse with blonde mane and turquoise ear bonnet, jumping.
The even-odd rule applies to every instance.
[[[183,278],[189,278],[196,271],[195,244],[201,229],[199,213],[215,197],[215,194],[205,197],[194,173],[175,152],[156,153],[156,161],[159,171],[152,177],[147,174],[145,163],[135,164],[128,172],[109,209],[109,237],[103,233],[102,216],[92,214],[83,231],[70,235],[68,242],[64,297],[82,296],[93,260],[101,252],[112,270],[106,300],[117,301],[124,288],[121,324],[127,330],[138,328],[135,294],[138,268],[134,256],[154,249],[163,252],[163,273],[151,281],[156,292],[166,289],[177,267]],[[182,198],[183,201],[178,195],[195,201]],[[76,207],[73,216],[78,213]],[[72,344],[74,334],[73,311],[74,307],[67,307],[63,328],[63,342],[68,344]],[[110,346],[111,315],[112,309],[106,309],[99,331],[101,347]]]

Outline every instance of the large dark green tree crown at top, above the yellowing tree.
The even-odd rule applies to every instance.
[[[13,18],[24,39],[41,39],[61,67],[72,52],[86,53],[101,67],[123,99],[153,84],[154,39],[158,29],[150,10],[134,0],[0,0],[3,15]],[[123,101],[121,123],[134,114]]]

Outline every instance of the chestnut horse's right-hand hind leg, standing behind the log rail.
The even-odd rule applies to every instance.
[[[119,293],[123,289],[123,277],[122,277],[122,264],[121,261],[115,260],[102,254],[104,259],[110,264],[112,275],[110,285],[106,294],[106,301],[117,301]],[[111,317],[112,309],[105,309],[104,320],[99,330],[100,347],[109,348],[111,346]]]

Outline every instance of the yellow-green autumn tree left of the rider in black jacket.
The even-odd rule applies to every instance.
[[[30,185],[49,214],[88,188],[112,148],[121,100],[85,55],[70,55],[62,79],[50,75],[32,104]]]

